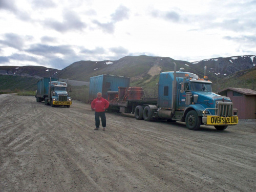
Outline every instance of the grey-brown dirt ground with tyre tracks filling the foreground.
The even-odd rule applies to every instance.
[[[0,95],[0,191],[256,191],[256,120],[218,131]]]

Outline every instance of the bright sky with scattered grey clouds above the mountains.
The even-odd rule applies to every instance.
[[[256,0],[0,0],[0,66],[256,54]]]

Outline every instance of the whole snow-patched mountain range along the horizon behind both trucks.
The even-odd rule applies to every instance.
[[[125,56],[119,60],[77,61],[62,70],[38,66],[3,66],[0,67],[0,76],[2,76],[0,83],[3,84],[7,79],[8,81],[13,79],[12,88],[15,87],[15,79],[3,77],[6,75],[35,78],[58,77],[61,79],[69,78],[70,80],[90,81],[92,76],[110,74],[130,77],[131,86],[156,89],[159,73],[174,71],[174,62],[177,63],[177,71],[180,68],[184,68],[185,71],[195,73],[200,77],[204,76],[204,66],[206,66],[206,75],[213,82],[214,91],[217,91],[217,87],[218,90],[227,87],[255,89],[256,55],[219,57],[197,62],[174,60],[169,57]],[[36,82],[36,80],[34,81]]]

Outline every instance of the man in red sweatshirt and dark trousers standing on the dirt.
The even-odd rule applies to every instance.
[[[103,131],[105,131],[106,127],[106,116],[105,109],[108,109],[110,103],[106,99],[102,98],[101,93],[97,93],[97,98],[93,100],[91,103],[92,109],[95,111],[95,125],[96,128],[94,130],[99,129],[99,117],[101,119],[101,124],[103,126]]]

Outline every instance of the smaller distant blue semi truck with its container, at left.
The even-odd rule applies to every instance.
[[[45,105],[63,105],[70,107],[72,99],[67,92],[68,84],[56,78],[44,77],[37,81],[36,102],[45,101]]]

